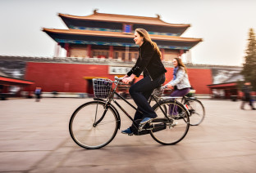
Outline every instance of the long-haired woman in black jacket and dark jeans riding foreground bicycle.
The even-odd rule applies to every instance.
[[[138,111],[135,113],[135,120],[142,119],[140,125],[144,125],[157,118],[157,114],[151,108],[148,100],[153,90],[165,82],[165,73],[167,70],[161,61],[161,52],[158,45],[152,42],[149,33],[145,29],[135,29],[134,35],[135,44],[139,45],[139,58],[135,66],[130,69],[130,72],[123,77],[122,82],[128,84],[132,82],[135,77],[143,72],[144,78],[135,82],[130,87],[130,96],[138,106]],[[139,113],[141,112],[141,113]],[[124,134],[132,134],[131,128],[121,131]]]

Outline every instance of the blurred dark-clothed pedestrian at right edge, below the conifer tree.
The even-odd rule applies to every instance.
[[[254,100],[251,96],[251,83],[250,82],[245,82],[245,85],[242,87],[242,91],[244,93],[244,97],[242,100],[242,104],[240,106],[240,109],[245,109],[245,104],[249,103],[249,106],[251,107],[251,109],[254,109]]]

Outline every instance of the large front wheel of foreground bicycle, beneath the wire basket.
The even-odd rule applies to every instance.
[[[102,121],[94,126],[94,122],[103,117],[104,111],[103,101],[91,101],[75,110],[69,122],[69,131],[76,144],[85,149],[99,149],[115,138],[120,120],[112,107],[107,108]]]

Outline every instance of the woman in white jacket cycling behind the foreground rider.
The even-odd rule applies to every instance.
[[[191,87],[187,69],[180,58],[174,58],[172,64],[174,65],[173,78],[164,87],[173,90],[171,97],[184,96],[190,92]],[[176,115],[176,108],[170,108],[170,110],[173,110],[170,114]]]

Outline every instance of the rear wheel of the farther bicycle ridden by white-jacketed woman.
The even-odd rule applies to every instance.
[[[203,104],[196,99],[186,100],[185,105],[187,105],[187,109],[190,112],[190,125],[198,126],[201,122],[203,122],[203,118],[205,116],[205,110]]]

